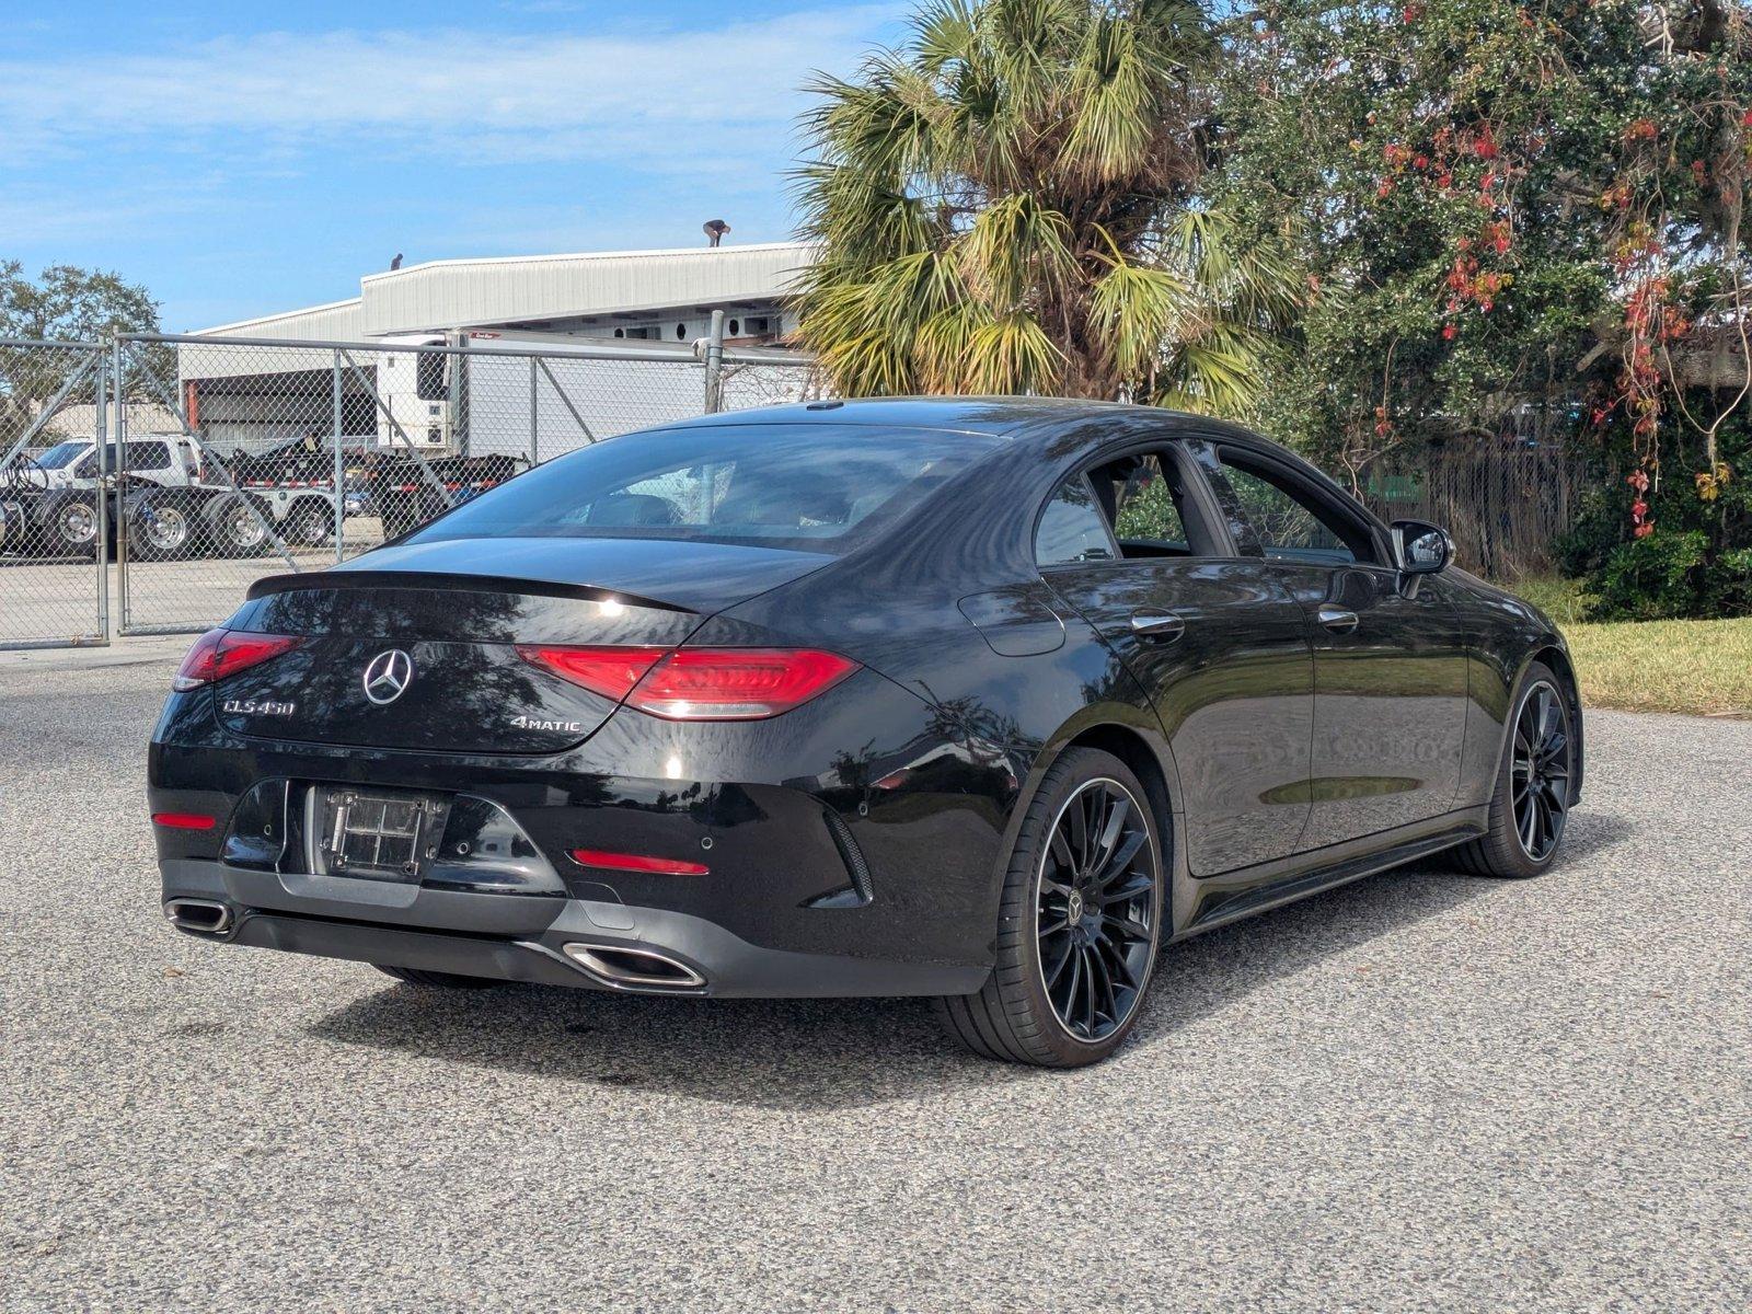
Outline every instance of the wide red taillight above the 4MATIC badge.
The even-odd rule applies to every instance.
[[[858,669],[818,648],[571,648],[519,645],[536,666],[666,720],[759,720],[808,703]]]

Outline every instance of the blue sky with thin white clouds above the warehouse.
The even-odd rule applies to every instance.
[[[16,12],[16,11],[14,11]],[[398,251],[788,237],[799,86],[904,4],[33,5],[0,46],[0,258],[170,331],[354,296]]]

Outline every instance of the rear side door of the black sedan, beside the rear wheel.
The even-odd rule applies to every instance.
[[[1184,456],[1134,445],[1079,470],[1044,508],[1035,554],[1156,710],[1191,872],[1293,853],[1309,815],[1307,625],[1272,568],[1235,554]]]

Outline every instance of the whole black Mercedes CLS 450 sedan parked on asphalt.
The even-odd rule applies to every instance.
[[[1139,406],[625,434],[194,645],[165,913],[424,986],[929,995],[1088,1063],[1176,939],[1438,851],[1551,865],[1565,641],[1451,555]]]

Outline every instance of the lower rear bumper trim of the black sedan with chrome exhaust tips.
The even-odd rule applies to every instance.
[[[503,981],[708,997],[965,995],[990,972],[767,948],[703,916],[624,902],[277,874],[201,858],[163,858],[159,872],[166,906],[223,909],[217,932],[179,927],[198,939]],[[624,971],[641,962],[671,979],[629,979],[650,974]]]

